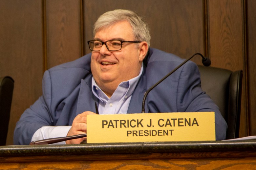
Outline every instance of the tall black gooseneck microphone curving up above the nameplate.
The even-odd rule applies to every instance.
[[[186,59],[185,61],[183,61],[180,65],[178,65],[175,69],[173,69],[170,73],[168,73],[166,76],[164,76],[162,79],[160,79],[156,84],[154,84],[152,87],[150,87],[146,93],[144,94],[143,100],[142,100],[142,109],[141,109],[141,113],[145,113],[145,101],[146,101],[146,97],[148,95],[148,93],[154,89],[158,84],[160,84],[165,78],[167,78],[168,76],[170,76],[171,74],[173,74],[178,68],[180,68],[182,65],[184,65],[188,60],[192,59],[194,56],[196,55],[200,55],[202,57],[202,63],[204,66],[209,66],[211,65],[211,60],[209,58],[204,57],[201,53],[196,53],[194,54],[192,57]]]

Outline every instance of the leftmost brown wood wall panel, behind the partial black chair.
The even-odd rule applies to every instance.
[[[0,76],[14,83],[7,144],[20,115],[41,95],[42,1],[0,1]]]

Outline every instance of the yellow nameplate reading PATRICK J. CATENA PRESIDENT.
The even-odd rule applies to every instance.
[[[87,143],[215,141],[214,112],[87,115]]]

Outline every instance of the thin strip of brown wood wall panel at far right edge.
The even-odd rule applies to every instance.
[[[256,1],[248,0],[248,85],[249,85],[249,110],[250,110],[250,135],[256,135]]]

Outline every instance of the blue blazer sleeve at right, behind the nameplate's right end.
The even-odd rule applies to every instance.
[[[177,107],[178,110],[185,112],[191,110],[194,112],[214,111],[216,140],[226,138],[227,124],[218,106],[203,92],[200,72],[194,62],[186,63],[181,70],[177,88]]]

